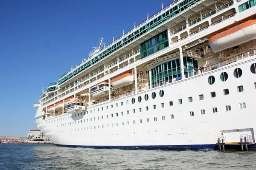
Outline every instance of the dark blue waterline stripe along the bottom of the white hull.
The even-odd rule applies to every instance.
[[[153,145],[153,146],[84,146],[84,145],[66,145],[55,144],[63,147],[85,147],[95,149],[160,149],[160,150],[214,150],[218,147],[216,144],[194,144],[194,145]]]

